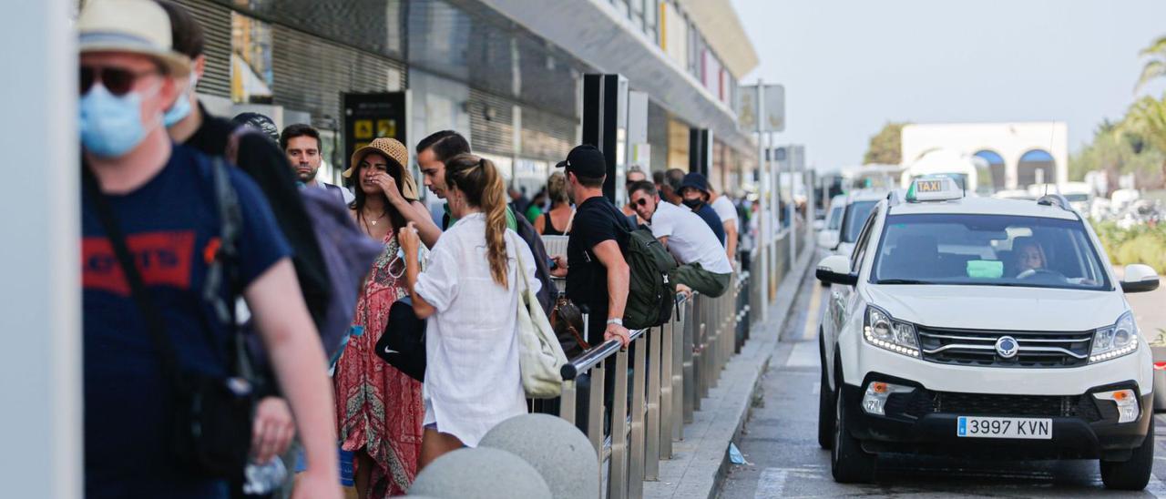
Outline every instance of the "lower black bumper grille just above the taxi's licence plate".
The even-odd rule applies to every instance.
[[[1112,405],[1110,405],[1112,406]],[[1093,395],[992,395],[915,389],[891,395],[886,413],[919,419],[947,413],[961,416],[1080,417],[1088,422],[1117,419],[1117,408],[1102,414]]]

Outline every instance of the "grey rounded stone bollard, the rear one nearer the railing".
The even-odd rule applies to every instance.
[[[561,417],[547,414],[511,417],[486,433],[479,445],[525,459],[542,475],[554,499],[599,497],[599,459],[595,448],[578,428]]]

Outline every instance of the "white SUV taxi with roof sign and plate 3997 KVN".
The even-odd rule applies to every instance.
[[[819,442],[838,482],[880,452],[1095,458],[1110,489],[1153,465],[1152,360],[1096,234],[1060,196],[964,197],[918,180],[879,202],[831,283],[821,330]]]

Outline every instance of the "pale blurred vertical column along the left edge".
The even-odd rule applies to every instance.
[[[0,147],[0,484],[13,498],[84,494],[76,0],[6,2]],[[29,210],[29,206],[36,209]],[[16,236],[19,234],[19,236]],[[111,359],[112,361],[113,359]]]

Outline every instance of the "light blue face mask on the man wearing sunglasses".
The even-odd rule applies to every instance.
[[[157,87],[150,92],[153,96]],[[94,83],[80,98],[80,143],[98,157],[122,156],[159,125],[157,119],[145,126],[141,119],[142,94],[127,92],[117,97]]]

